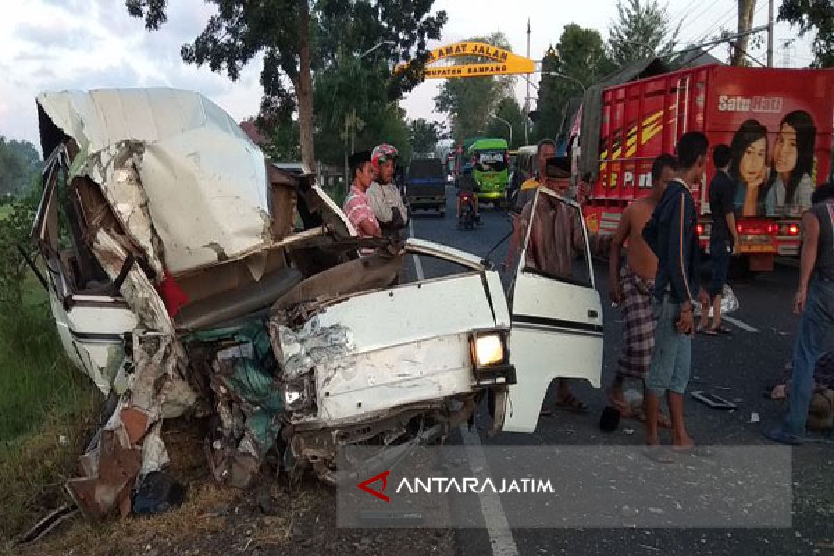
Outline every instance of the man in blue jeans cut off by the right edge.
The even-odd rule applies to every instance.
[[[801,318],[793,348],[787,415],[783,425],[765,433],[767,438],[786,444],[799,444],[805,438],[814,366],[834,325],[834,198],[817,196],[815,200],[818,202],[802,216],[799,286],[794,298],[794,312]]]

